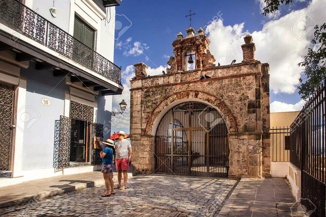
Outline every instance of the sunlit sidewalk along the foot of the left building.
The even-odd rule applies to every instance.
[[[128,172],[128,179],[130,178],[132,178],[132,173]],[[117,179],[117,173],[114,173],[114,183],[117,183]],[[104,185],[104,179],[101,171],[25,181],[0,188],[0,208],[102,185]]]

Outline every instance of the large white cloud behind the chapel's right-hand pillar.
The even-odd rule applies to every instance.
[[[270,64],[270,87],[274,93],[295,92],[302,72],[297,64],[302,61],[301,56],[307,54],[314,23],[325,22],[325,11],[324,0],[312,0],[307,8],[271,20],[264,24],[262,30],[250,33],[256,45],[255,59]],[[303,14],[310,17],[302,16]],[[296,29],[299,22],[306,22],[310,31]],[[242,61],[241,44],[244,44],[243,36],[248,33],[244,30],[244,25],[245,23],[224,26],[222,20],[217,20],[206,28],[211,40],[210,51],[217,59],[216,63],[227,65],[233,59]],[[292,31],[290,25],[294,27]]]

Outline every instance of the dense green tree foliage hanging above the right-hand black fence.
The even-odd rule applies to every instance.
[[[314,38],[311,44],[319,47],[317,51],[308,49],[308,54],[299,66],[305,67],[306,78],[299,79],[301,85],[298,87],[299,94],[307,99],[314,91],[318,90],[326,78],[326,23],[321,27],[315,26]]]

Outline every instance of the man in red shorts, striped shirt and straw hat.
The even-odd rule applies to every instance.
[[[131,144],[127,138],[127,134],[124,131],[117,132],[119,140],[115,142],[115,166],[118,171],[118,184],[114,188],[124,190],[127,188],[129,162],[131,160]],[[124,174],[124,185],[121,185],[122,173]]]

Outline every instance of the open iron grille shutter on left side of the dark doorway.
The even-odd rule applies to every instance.
[[[71,119],[60,115],[54,123],[54,171],[69,167]]]

